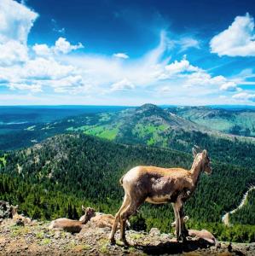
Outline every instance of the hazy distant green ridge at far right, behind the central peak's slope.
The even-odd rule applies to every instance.
[[[254,109],[223,109],[209,107],[177,107],[168,108],[171,113],[191,120],[198,125],[210,129],[255,137],[255,110]]]

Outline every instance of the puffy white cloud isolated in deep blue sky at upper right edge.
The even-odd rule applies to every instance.
[[[210,42],[211,52],[219,56],[255,56],[254,20],[249,15],[237,16],[234,22]]]

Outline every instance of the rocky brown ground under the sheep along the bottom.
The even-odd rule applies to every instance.
[[[206,241],[177,243],[171,234],[127,231],[130,247],[118,238],[117,244],[108,241],[109,228],[96,228],[87,224],[78,234],[49,231],[49,222],[16,225],[12,219],[0,224],[0,255],[255,255],[255,243],[238,244],[219,242],[209,246]]]

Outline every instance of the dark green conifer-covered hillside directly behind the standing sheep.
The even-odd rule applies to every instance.
[[[238,149],[230,146],[233,153]],[[211,148],[207,149],[210,154]],[[189,225],[211,229],[222,239],[241,241],[240,226],[234,226],[229,233],[220,222],[224,212],[239,204],[249,184],[255,183],[252,164],[247,165],[254,149],[252,146],[247,148],[246,158],[241,157],[239,161],[235,156],[232,161],[231,154],[226,151],[217,154],[216,150],[212,150],[215,155],[212,156],[212,176],[201,176],[196,192],[185,207]],[[228,164],[223,163],[224,157]],[[52,137],[32,148],[9,152],[2,159],[1,199],[18,203],[21,211],[32,218],[47,219],[78,218],[82,204],[115,213],[123,196],[119,177],[132,166],[189,168],[193,161],[191,154],[167,148],[118,144],[81,133]],[[246,212],[246,219],[249,214],[252,212]],[[171,205],[147,204],[137,218],[140,222],[145,218],[147,229],[156,226],[169,231],[173,211]],[[253,226],[242,225],[241,229],[246,233],[246,241],[254,241]]]

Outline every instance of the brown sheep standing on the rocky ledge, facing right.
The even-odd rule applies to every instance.
[[[210,174],[212,168],[206,149],[197,154],[193,149],[194,162],[191,169],[160,168],[156,166],[136,166],[120,178],[119,182],[125,189],[125,197],[119,212],[115,215],[110,240],[115,243],[114,235],[120,223],[120,240],[125,239],[125,223],[130,215],[134,214],[144,201],[154,204],[171,202],[177,220],[177,241],[187,235],[183,224],[183,203],[187,201],[202,171]]]

